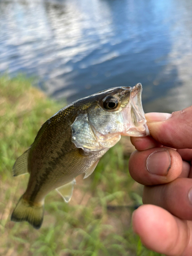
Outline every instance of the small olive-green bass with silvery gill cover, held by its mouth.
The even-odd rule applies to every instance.
[[[51,190],[69,202],[75,178],[90,176],[121,135],[149,135],[141,92],[141,83],[104,90],[74,101],[42,124],[33,144],[13,166],[13,176],[30,176],[11,220],[40,228],[45,197]]]

